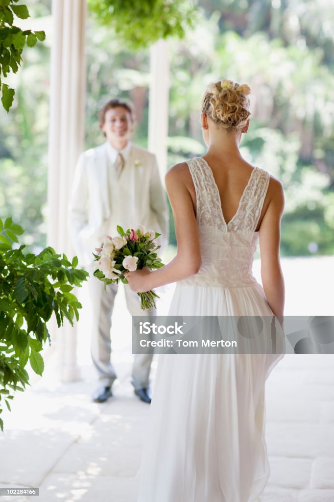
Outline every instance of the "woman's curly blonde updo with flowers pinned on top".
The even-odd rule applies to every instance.
[[[227,132],[241,131],[250,117],[250,88],[232,80],[208,85],[202,99],[202,113]]]

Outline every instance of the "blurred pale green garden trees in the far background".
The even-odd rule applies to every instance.
[[[29,3],[46,29],[49,4]],[[200,101],[208,82],[226,76],[250,84],[252,120],[242,152],[283,182],[282,255],[332,254],[334,26],[327,0],[200,0],[199,7],[195,28],[169,41],[168,165],[205,151]],[[86,54],[86,148],[104,141],[97,112],[112,97],[134,102],[133,141],[146,147],[149,51],[128,49],[91,16]],[[22,242],[37,252],[46,233],[48,40],[24,59],[11,120],[0,110],[0,206],[3,216],[20,220]],[[307,232],[296,232],[299,223]],[[170,235],[175,243],[172,226]]]

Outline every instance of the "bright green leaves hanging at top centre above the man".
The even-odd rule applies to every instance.
[[[136,50],[172,35],[182,38],[197,19],[197,9],[190,0],[88,0],[88,5],[99,23]]]

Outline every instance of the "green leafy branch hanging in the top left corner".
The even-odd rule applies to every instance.
[[[20,19],[30,17],[27,6],[16,5],[19,0],[0,0],[0,92],[1,101],[8,112],[13,104],[15,90],[2,82],[11,71],[17,73],[22,62],[22,51],[27,44],[34,47],[45,40],[44,31],[22,31],[14,25],[14,16]]]

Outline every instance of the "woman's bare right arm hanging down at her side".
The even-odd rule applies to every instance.
[[[282,316],[284,310],[284,279],[280,265],[280,223],[284,209],[284,192],[281,183],[271,178],[272,197],[260,228],[261,279],[271,310]]]

